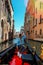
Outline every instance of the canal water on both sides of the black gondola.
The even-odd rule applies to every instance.
[[[12,41],[8,41],[6,43],[0,43],[0,52],[5,50],[6,48],[9,48],[13,44],[16,44],[18,42],[18,39],[19,38],[13,39]],[[37,55],[40,56],[42,53],[42,48],[41,48],[42,44],[43,44],[42,42],[29,40],[28,46],[30,45],[36,51]]]

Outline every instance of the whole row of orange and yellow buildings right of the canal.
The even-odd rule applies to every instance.
[[[28,31],[29,39],[43,40],[43,1],[29,0],[24,22],[25,33]]]

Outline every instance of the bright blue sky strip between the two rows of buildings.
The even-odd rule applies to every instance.
[[[14,25],[16,31],[20,31],[21,26],[24,25],[27,1],[28,0],[12,0],[15,20]]]

